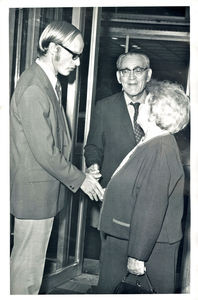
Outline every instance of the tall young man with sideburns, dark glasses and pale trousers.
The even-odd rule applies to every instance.
[[[20,77],[11,100],[11,294],[38,294],[53,220],[66,189],[93,200],[100,184],[70,162],[71,138],[57,74],[80,65],[84,42],[67,22],[52,22],[39,40],[39,58]]]

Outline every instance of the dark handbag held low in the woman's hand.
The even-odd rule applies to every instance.
[[[148,275],[133,275],[127,273],[114,289],[114,294],[155,294]]]

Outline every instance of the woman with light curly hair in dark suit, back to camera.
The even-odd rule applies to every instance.
[[[127,272],[147,272],[157,293],[174,293],[182,239],[184,171],[174,133],[189,121],[189,98],[163,81],[150,89],[137,122],[145,136],[104,194],[97,293],[113,293]]]

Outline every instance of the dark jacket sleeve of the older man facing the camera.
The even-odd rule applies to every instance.
[[[87,144],[85,146],[84,155],[87,167],[91,166],[94,163],[97,163],[101,167],[104,155],[103,123],[102,105],[99,101],[96,104],[95,110],[93,112]]]

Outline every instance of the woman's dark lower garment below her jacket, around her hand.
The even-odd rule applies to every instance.
[[[112,294],[127,273],[128,241],[101,235],[102,249],[97,294]],[[157,293],[175,292],[176,264],[180,242],[157,243],[145,263],[147,274]]]

